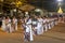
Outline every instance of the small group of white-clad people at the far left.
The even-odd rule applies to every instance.
[[[17,30],[17,19],[15,17],[13,17],[12,19],[10,17],[3,17],[1,30],[6,31],[6,32],[16,31]]]

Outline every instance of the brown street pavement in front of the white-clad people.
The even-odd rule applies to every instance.
[[[0,43],[65,43],[65,24],[58,24],[41,35],[35,35],[32,42],[24,42],[23,30],[8,33],[0,30]]]

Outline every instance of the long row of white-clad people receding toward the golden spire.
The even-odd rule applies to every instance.
[[[52,29],[57,25],[57,18],[48,18],[41,16],[22,18],[25,41],[34,41],[34,35],[43,34],[48,29]]]

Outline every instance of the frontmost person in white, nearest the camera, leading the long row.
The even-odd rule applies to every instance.
[[[34,41],[32,38],[32,29],[31,29],[31,18],[26,17],[25,18],[25,40],[27,41]]]

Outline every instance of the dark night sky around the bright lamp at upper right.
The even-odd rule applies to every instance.
[[[43,8],[50,12],[56,12],[58,10],[57,0],[32,0],[29,1],[29,3],[39,8]],[[61,6],[65,11],[65,0],[63,0]]]

